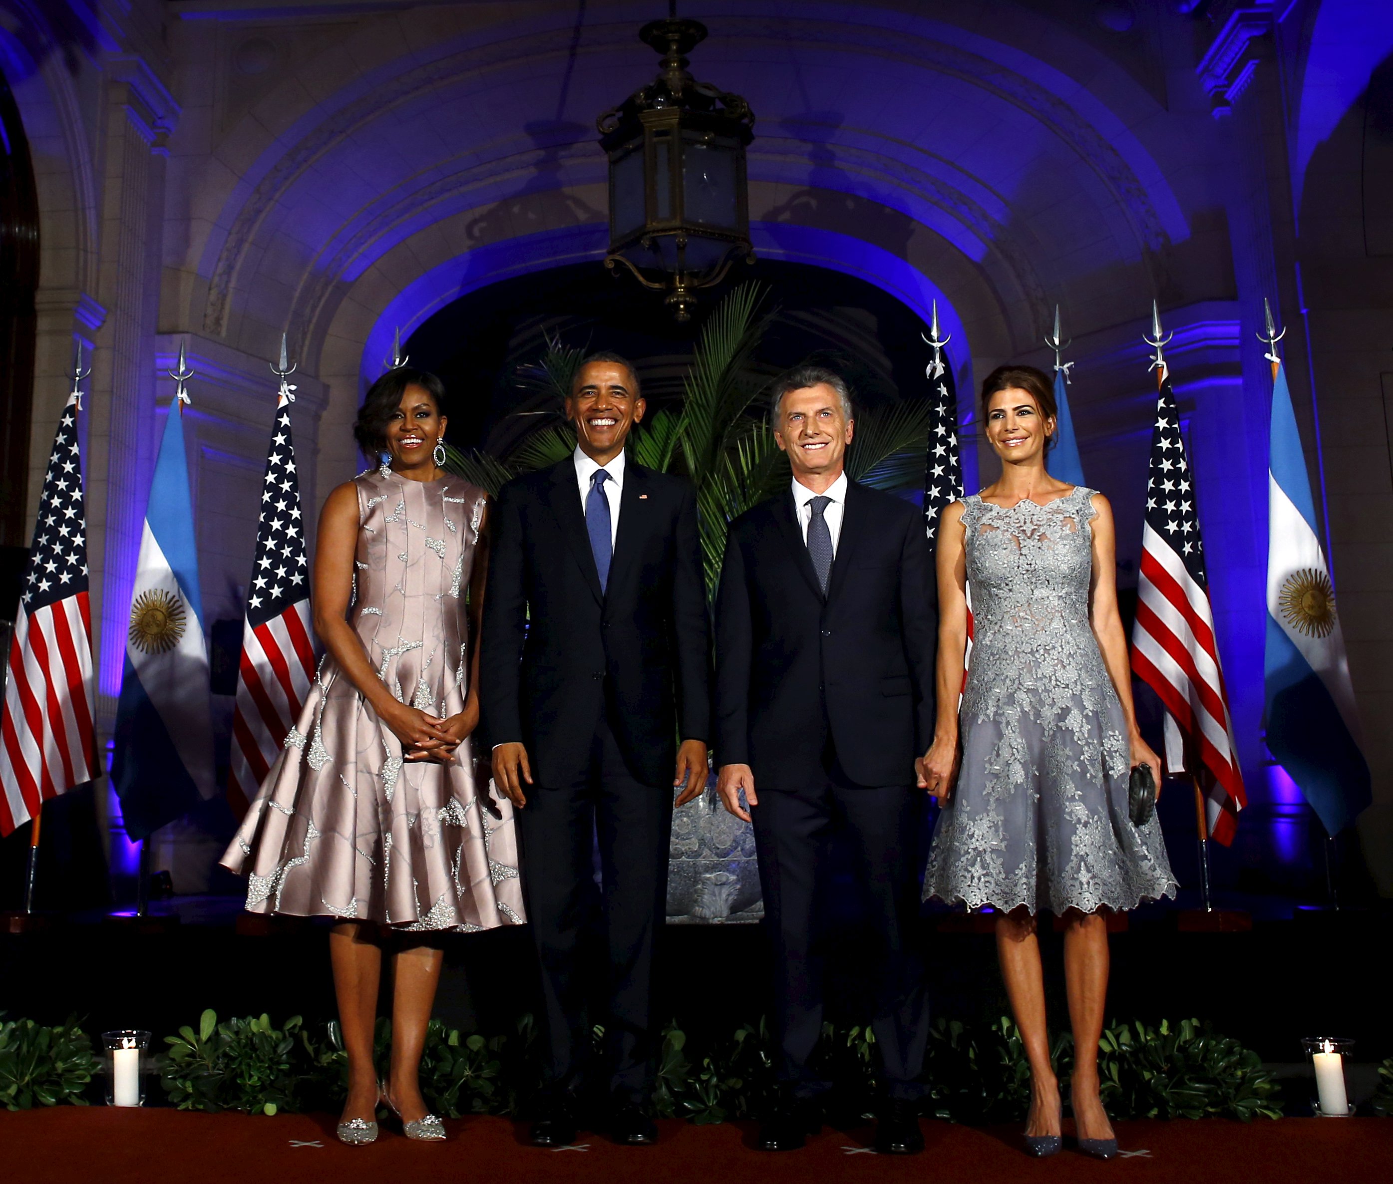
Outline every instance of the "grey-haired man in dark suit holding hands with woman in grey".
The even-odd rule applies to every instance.
[[[822,1029],[829,843],[857,861],[878,956],[865,967],[886,1096],[876,1148],[922,1149],[928,999],[915,855],[915,758],[933,738],[937,596],[914,504],[848,481],[846,383],[804,366],[773,386],[791,488],[730,527],[716,600],[716,763],[726,808],[752,820],[773,940],[779,1103],[759,1145],[804,1145],[827,1082]]]

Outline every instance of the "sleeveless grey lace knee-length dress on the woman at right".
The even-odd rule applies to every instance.
[[[1127,910],[1174,896],[1160,825],[1133,826],[1121,705],[1088,618],[1094,490],[1010,510],[964,499],[974,645],[963,765],[925,898]]]

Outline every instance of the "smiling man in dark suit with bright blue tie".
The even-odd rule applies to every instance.
[[[582,950],[600,929],[610,1127],[621,1144],[657,1138],[649,1113],[657,1027],[649,981],[666,914],[673,787],[706,784],[709,630],[691,483],[624,455],[644,418],[634,368],[593,354],[566,415],[577,447],[510,482],[490,511],[479,655],[493,779],[518,808],[522,889],[542,963],[546,1089],[538,1146],[577,1131],[593,978]],[[680,741],[680,742],[678,742]]]

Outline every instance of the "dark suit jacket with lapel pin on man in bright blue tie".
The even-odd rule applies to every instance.
[[[522,741],[543,786],[582,776],[609,706],[638,780],[671,783],[677,737],[708,740],[709,627],[691,485],[625,458],[609,585],[575,462],[508,482],[490,515],[479,699],[490,744]]]

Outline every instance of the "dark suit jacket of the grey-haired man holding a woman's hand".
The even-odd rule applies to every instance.
[[[917,506],[851,482],[822,595],[793,493],[730,525],[716,600],[716,761],[755,788],[912,783],[933,738],[937,589]]]

